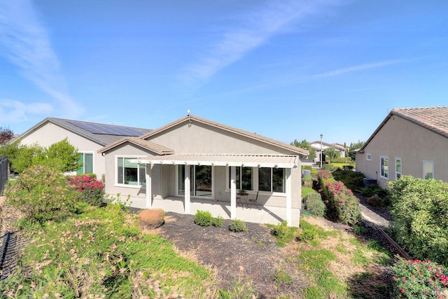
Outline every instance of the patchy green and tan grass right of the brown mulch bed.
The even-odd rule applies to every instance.
[[[341,230],[323,228],[309,221],[316,218],[303,216],[297,235],[304,230],[317,237],[307,242],[290,243],[293,253],[286,263],[295,265],[309,284],[301,292],[303,298],[377,298],[387,284],[381,279],[381,267],[390,265],[388,253],[374,241],[358,239]],[[281,272],[286,277],[288,272]]]

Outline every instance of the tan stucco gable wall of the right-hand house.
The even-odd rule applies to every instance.
[[[434,162],[434,179],[448,181],[448,139],[420,125],[392,116],[384,127],[365,146],[364,153],[356,153],[356,171],[377,179],[386,188],[395,180],[395,158],[401,158],[402,175],[423,177],[423,160]],[[372,160],[367,161],[367,154]],[[388,157],[388,179],[380,177],[380,157]]]

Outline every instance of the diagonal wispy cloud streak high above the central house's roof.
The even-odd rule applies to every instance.
[[[309,18],[311,15],[328,11],[340,1],[274,1],[247,13],[237,20],[239,25],[223,32],[222,38],[211,46],[208,53],[190,64],[183,72],[183,79],[193,83],[207,81],[221,69],[240,60],[255,48],[262,46],[272,36],[283,32],[286,27]]]

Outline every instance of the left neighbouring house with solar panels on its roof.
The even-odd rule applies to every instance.
[[[81,153],[80,160],[83,162],[83,167],[78,169],[77,173],[94,173],[97,174],[98,179],[102,179],[102,176],[105,174],[104,156],[97,153],[99,148],[123,137],[136,137],[150,131],[148,129],[121,125],[90,123],[62,118],[45,118],[13,141],[19,141],[20,144],[24,145],[38,144],[48,148],[48,146],[67,138],[70,144],[78,148],[78,151]]]

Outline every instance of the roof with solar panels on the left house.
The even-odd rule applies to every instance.
[[[37,127],[40,127],[41,125],[45,123],[54,123],[55,125],[59,125],[60,127],[64,127],[64,129],[69,130],[71,132],[74,132],[76,134],[79,134],[82,137],[85,137],[86,139],[90,139],[94,142],[97,142],[98,144],[102,146],[106,146],[107,144],[111,144],[119,139],[122,139],[123,137],[126,137],[128,135],[118,135],[121,132],[123,134],[131,134],[133,135],[137,134],[137,132],[141,132],[141,134],[146,134],[150,132],[149,129],[143,129],[139,127],[127,127],[123,125],[108,125],[103,123],[91,123],[86,121],[80,121],[80,120],[68,120],[64,118],[45,118],[37,125],[34,125],[34,127],[31,127],[29,130],[27,130],[25,133],[21,134],[16,140],[22,139],[22,137],[27,136],[27,134],[30,134],[33,132]],[[101,129],[104,129],[103,131],[100,131]],[[115,129],[115,131],[113,131]],[[105,132],[109,134],[99,134],[99,132]]]

